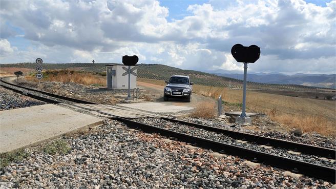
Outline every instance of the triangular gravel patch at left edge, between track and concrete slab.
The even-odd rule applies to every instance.
[[[0,87],[0,111],[25,108],[45,104],[45,102],[30,98],[23,94]]]

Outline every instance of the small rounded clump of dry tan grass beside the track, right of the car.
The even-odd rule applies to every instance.
[[[197,105],[191,116],[208,119],[216,117],[216,112],[217,108],[215,103],[201,102]]]

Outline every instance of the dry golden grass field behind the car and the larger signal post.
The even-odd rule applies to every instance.
[[[164,82],[159,80],[143,81],[164,86]],[[242,90],[200,85],[194,85],[193,89],[197,94],[213,98],[222,95],[224,109],[241,110],[239,104],[242,102]],[[336,136],[335,101],[247,91],[246,111],[266,114],[270,119],[289,128],[302,128],[304,132]]]

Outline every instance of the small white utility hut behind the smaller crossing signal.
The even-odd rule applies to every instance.
[[[106,81],[108,89],[128,89],[129,76],[122,76],[126,71],[122,67],[128,68],[123,64],[106,65]],[[131,66],[131,69],[136,66]],[[133,72],[137,73],[137,70]],[[136,88],[136,76],[131,74],[131,89]]]

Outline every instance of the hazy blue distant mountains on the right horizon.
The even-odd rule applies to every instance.
[[[213,73],[219,76],[243,79],[243,74],[237,73]],[[274,83],[274,84],[296,84],[303,86],[336,88],[336,74],[247,74],[247,80],[251,82]]]

